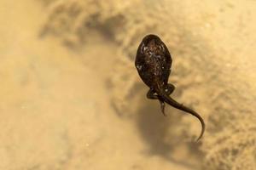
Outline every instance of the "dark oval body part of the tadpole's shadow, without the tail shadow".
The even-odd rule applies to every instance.
[[[157,100],[144,102],[137,111],[137,127],[150,155],[166,156],[172,152],[172,144],[165,141],[170,126],[170,116],[161,113]]]

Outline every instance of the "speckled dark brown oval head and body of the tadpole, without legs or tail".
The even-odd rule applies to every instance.
[[[148,35],[137,49],[136,67],[143,82],[149,88],[164,88],[171,72],[172,58],[166,45],[159,37]]]

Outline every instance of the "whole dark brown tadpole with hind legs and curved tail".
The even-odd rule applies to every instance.
[[[188,107],[177,103],[177,101],[169,96],[175,89],[171,83],[168,83],[172,57],[165,43],[160,40],[160,37],[150,34],[143,38],[137,49],[135,65],[139,76],[149,87],[148,99],[159,99],[161,111],[164,115],[166,115],[165,103],[167,103],[196,116],[200,120],[202,127],[201,134],[197,140],[201,139],[205,131],[205,123],[201,116]]]

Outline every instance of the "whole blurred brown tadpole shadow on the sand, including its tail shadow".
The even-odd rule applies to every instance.
[[[167,116],[164,116],[157,100],[145,99],[137,110],[139,134],[148,146],[146,154],[161,156],[184,167],[201,169],[196,161],[201,157],[198,144],[185,141],[185,135],[177,130],[177,127],[181,126],[183,115],[176,109],[167,109],[167,107],[168,105],[166,105]],[[188,151],[185,151],[185,155],[184,150]]]

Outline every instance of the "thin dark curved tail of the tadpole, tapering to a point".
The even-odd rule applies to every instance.
[[[170,96],[166,95],[166,94],[162,94],[161,97],[165,100],[165,102],[169,105],[172,105],[173,107],[175,107],[178,110],[181,111],[186,111],[188,113],[190,113],[191,115],[197,117],[199,119],[199,121],[201,122],[201,134],[198,137],[198,139],[196,141],[199,141],[201,139],[201,137],[203,136],[204,132],[205,132],[205,122],[204,120],[201,118],[201,116],[196,113],[195,111],[193,111],[192,109],[189,109],[188,107],[177,103],[176,100],[172,99]]]

